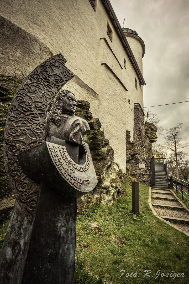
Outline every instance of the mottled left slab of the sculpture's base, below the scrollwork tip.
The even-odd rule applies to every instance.
[[[0,283],[22,283],[32,227],[16,201],[0,254]]]

